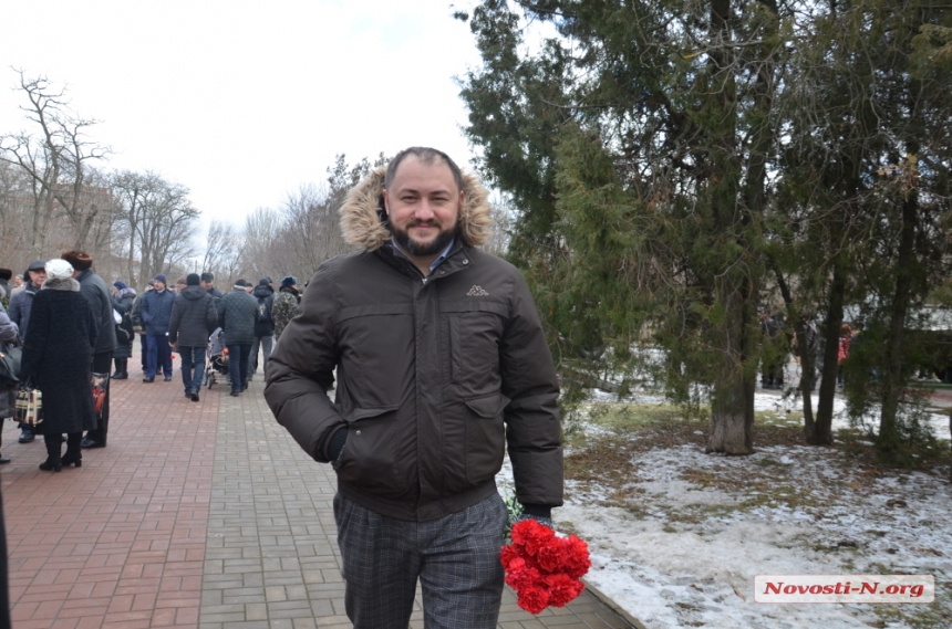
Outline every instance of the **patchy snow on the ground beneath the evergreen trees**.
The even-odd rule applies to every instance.
[[[774,391],[756,398],[762,410],[798,402]],[[948,439],[948,417],[937,417]],[[638,452],[632,463],[623,488],[567,482],[553,516],[557,528],[588,542],[586,580],[649,629],[909,627],[922,612],[949,612],[940,584],[952,577],[952,488],[943,479],[869,474],[839,450],[786,445],[742,458],[677,445]],[[497,480],[513,493],[508,459]],[[619,489],[640,509],[599,504]],[[798,574],[934,575],[944,610],[754,601],[756,575]],[[938,618],[928,626],[948,626],[948,616]]]

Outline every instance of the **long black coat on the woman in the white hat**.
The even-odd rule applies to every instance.
[[[33,297],[20,375],[43,392],[44,432],[96,428],[91,364],[99,331],[77,281],[46,280]]]

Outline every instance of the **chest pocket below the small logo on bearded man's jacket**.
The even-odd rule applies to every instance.
[[[493,302],[442,305],[446,321],[449,378],[466,394],[499,390],[499,344],[508,311]]]

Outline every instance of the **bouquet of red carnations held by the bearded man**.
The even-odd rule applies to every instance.
[[[513,543],[503,546],[499,559],[519,607],[539,614],[550,605],[565,607],[582,593],[579,579],[592,565],[588,544],[575,535],[559,537],[535,520],[517,522],[510,534]]]

